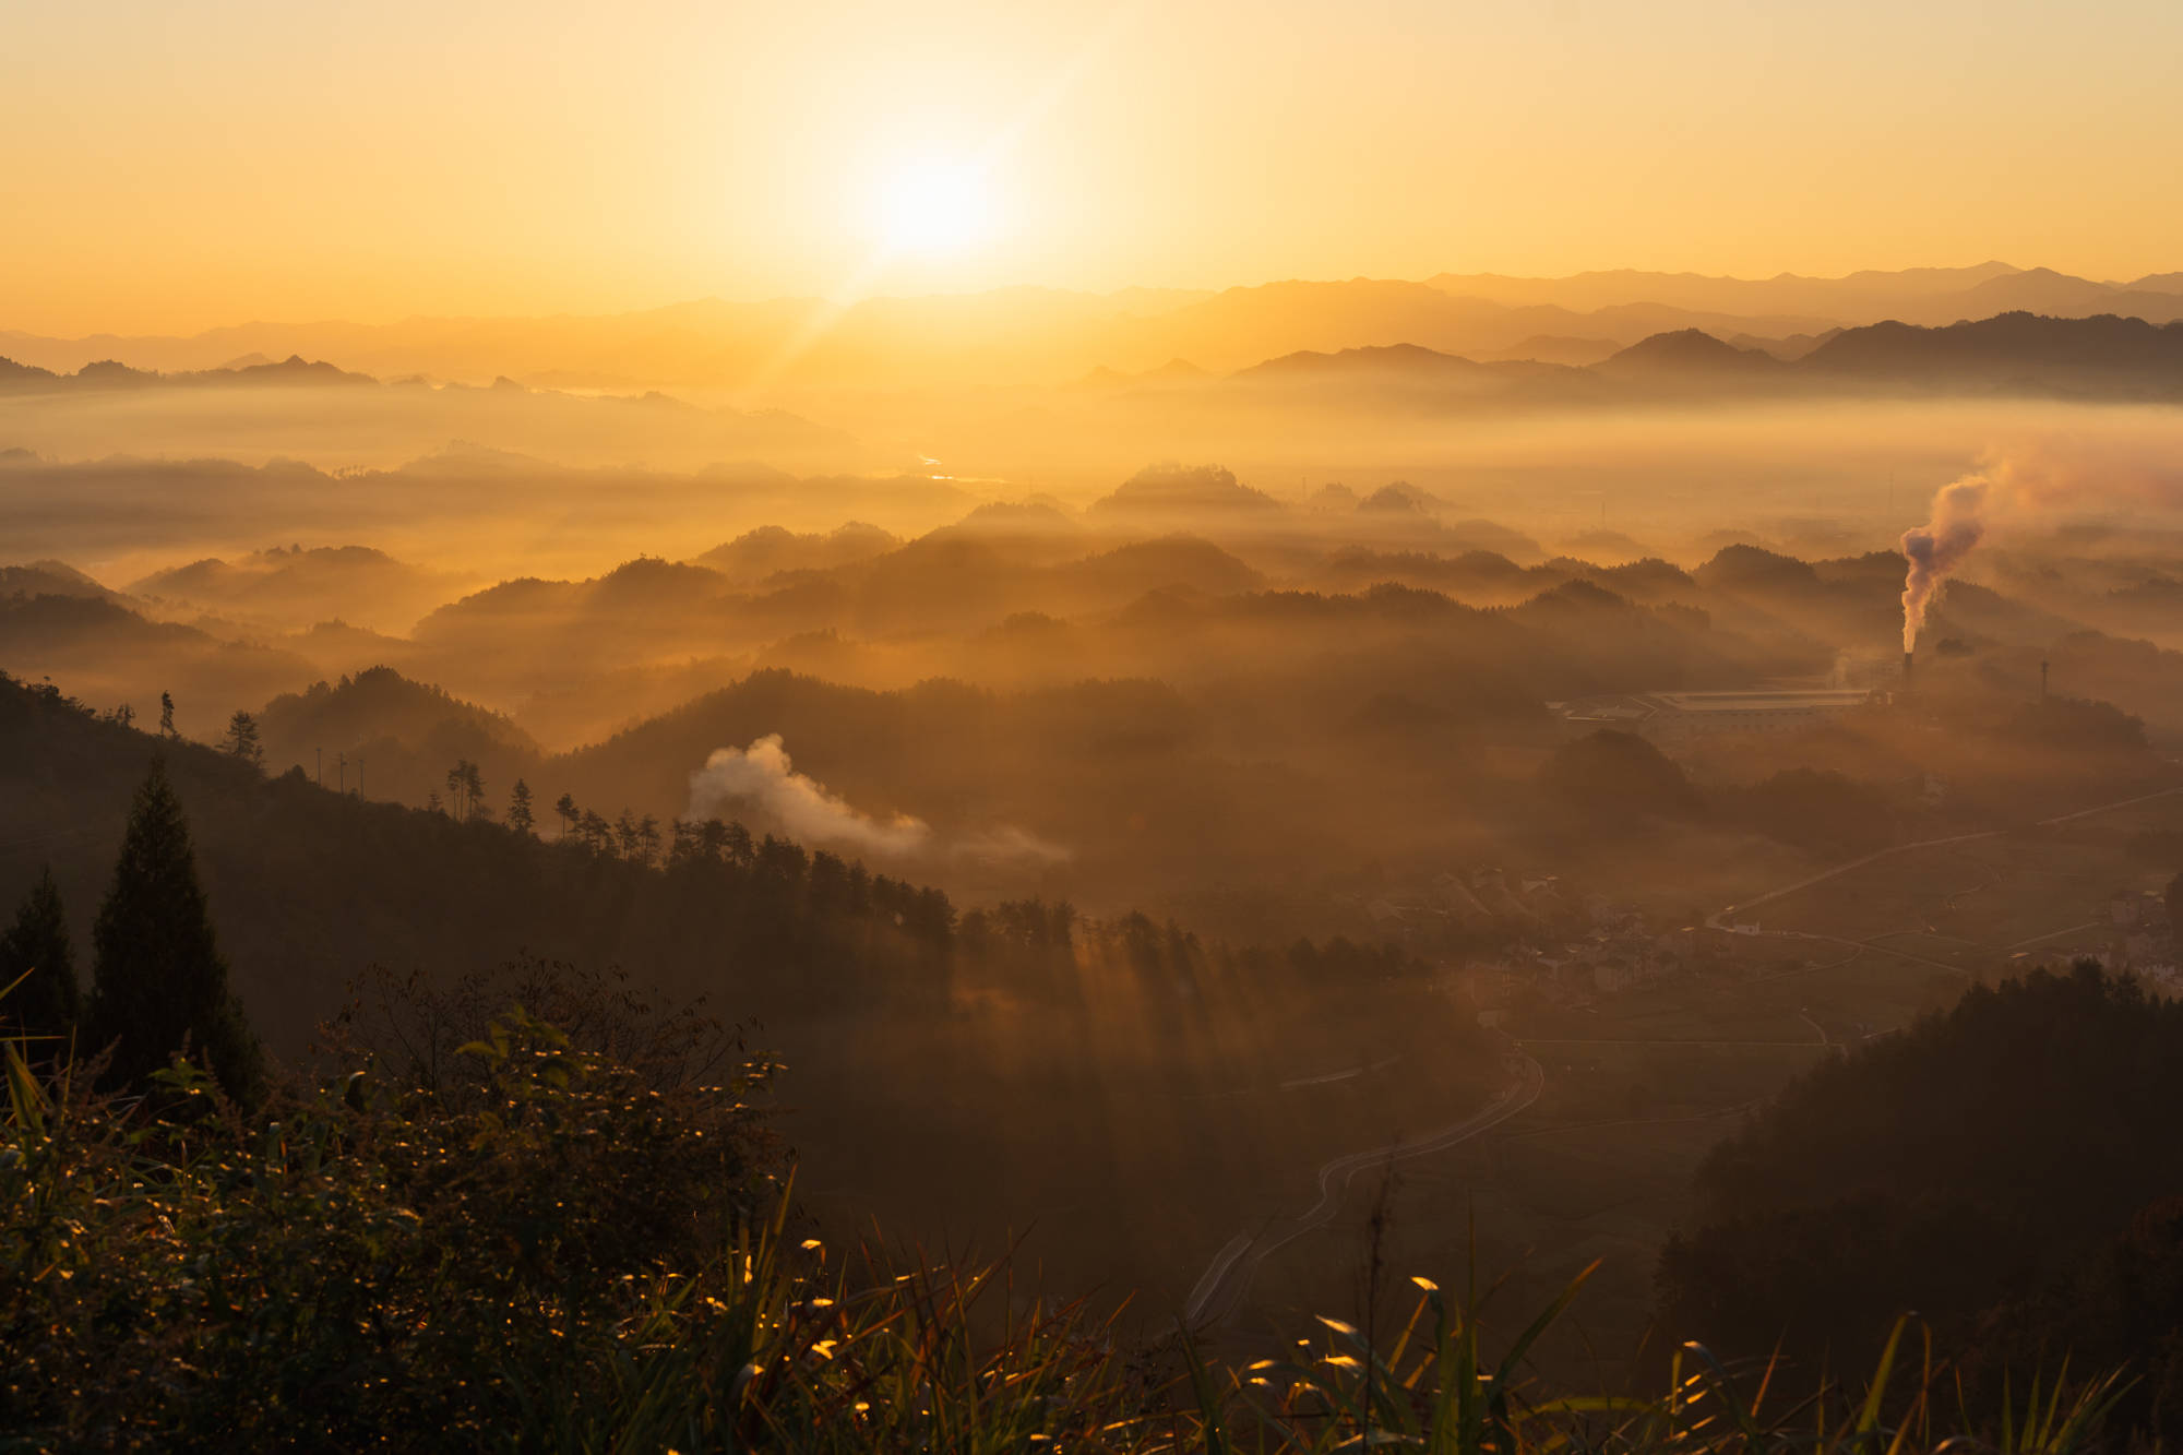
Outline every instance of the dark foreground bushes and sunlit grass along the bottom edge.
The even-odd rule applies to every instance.
[[[1006,1267],[803,1237],[747,1092],[646,1081],[515,1016],[430,1092],[354,1073],[258,1114],[179,1064],[140,1099],[7,1055],[0,1448],[1779,1451],[2098,1444],[2115,1376],[1987,1427],[1908,1324],[1862,1381],[1685,1346],[1650,1398],[1539,1389],[1583,1278],[1495,1341],[1417,1280],[1388,1344],[1133,1348]]]

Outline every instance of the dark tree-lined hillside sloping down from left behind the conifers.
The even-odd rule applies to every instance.
[[[1159,1289],[1157,1309],[1255,1199],[1353,1149],[1360,1099],[1399,1095],[1456,1121],[1502,1079],[1491,1040],[1401,953],[1225,948],[1035,900],[958,913],[934,889],[729,824],[659,826],[657,854],[544,843],[299,771],[269,780],[7,679],[0,898],[50,861],[72,937],[90,944],[155,752],[231,983],[275,1057],[301,1055],[371,968],[439,985],[524,955],[627,972],[655,1003],[703,996],[788,1064],[782,1132],[814,1204],[989,1247],[1037,1221],[1065,1282]],[[1401,1084],[1277,1090],[1364,1053],[1399,1055],[1386,1075]]]

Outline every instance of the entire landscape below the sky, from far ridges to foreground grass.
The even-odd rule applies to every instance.
[[[2183,1429],[2176,275],[801,317],[0,334],[24,1448]]]

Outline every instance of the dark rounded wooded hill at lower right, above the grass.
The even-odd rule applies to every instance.
[[[2135,1361],[2133,1418],[2183,1429],[2183,1005],[2089,961],[1821,1064],[1698,1178],[1666,1320],[1727,1359],[1858,1363],[1917,1309],[1995,1407],[2065,1350]],[[1786,1328],[1784,1328],[1786,1326]],[[2021,1387],[2021,1383],[2019,1383]]]

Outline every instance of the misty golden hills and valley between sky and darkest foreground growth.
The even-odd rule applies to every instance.
[[[1358,1228],[1264,1234],[1314,1171],[1528,1088],[1388,1237],[1635,1250],[1635,1337],[1722,1119],[2017,957],[2168,963],[2174,286],[11,339],[0,872],[87,935],[164,752],[282,1055],[373,966],[620,968],[764,1022],[827,1212],[1231,1333],[1353,1298]]]

